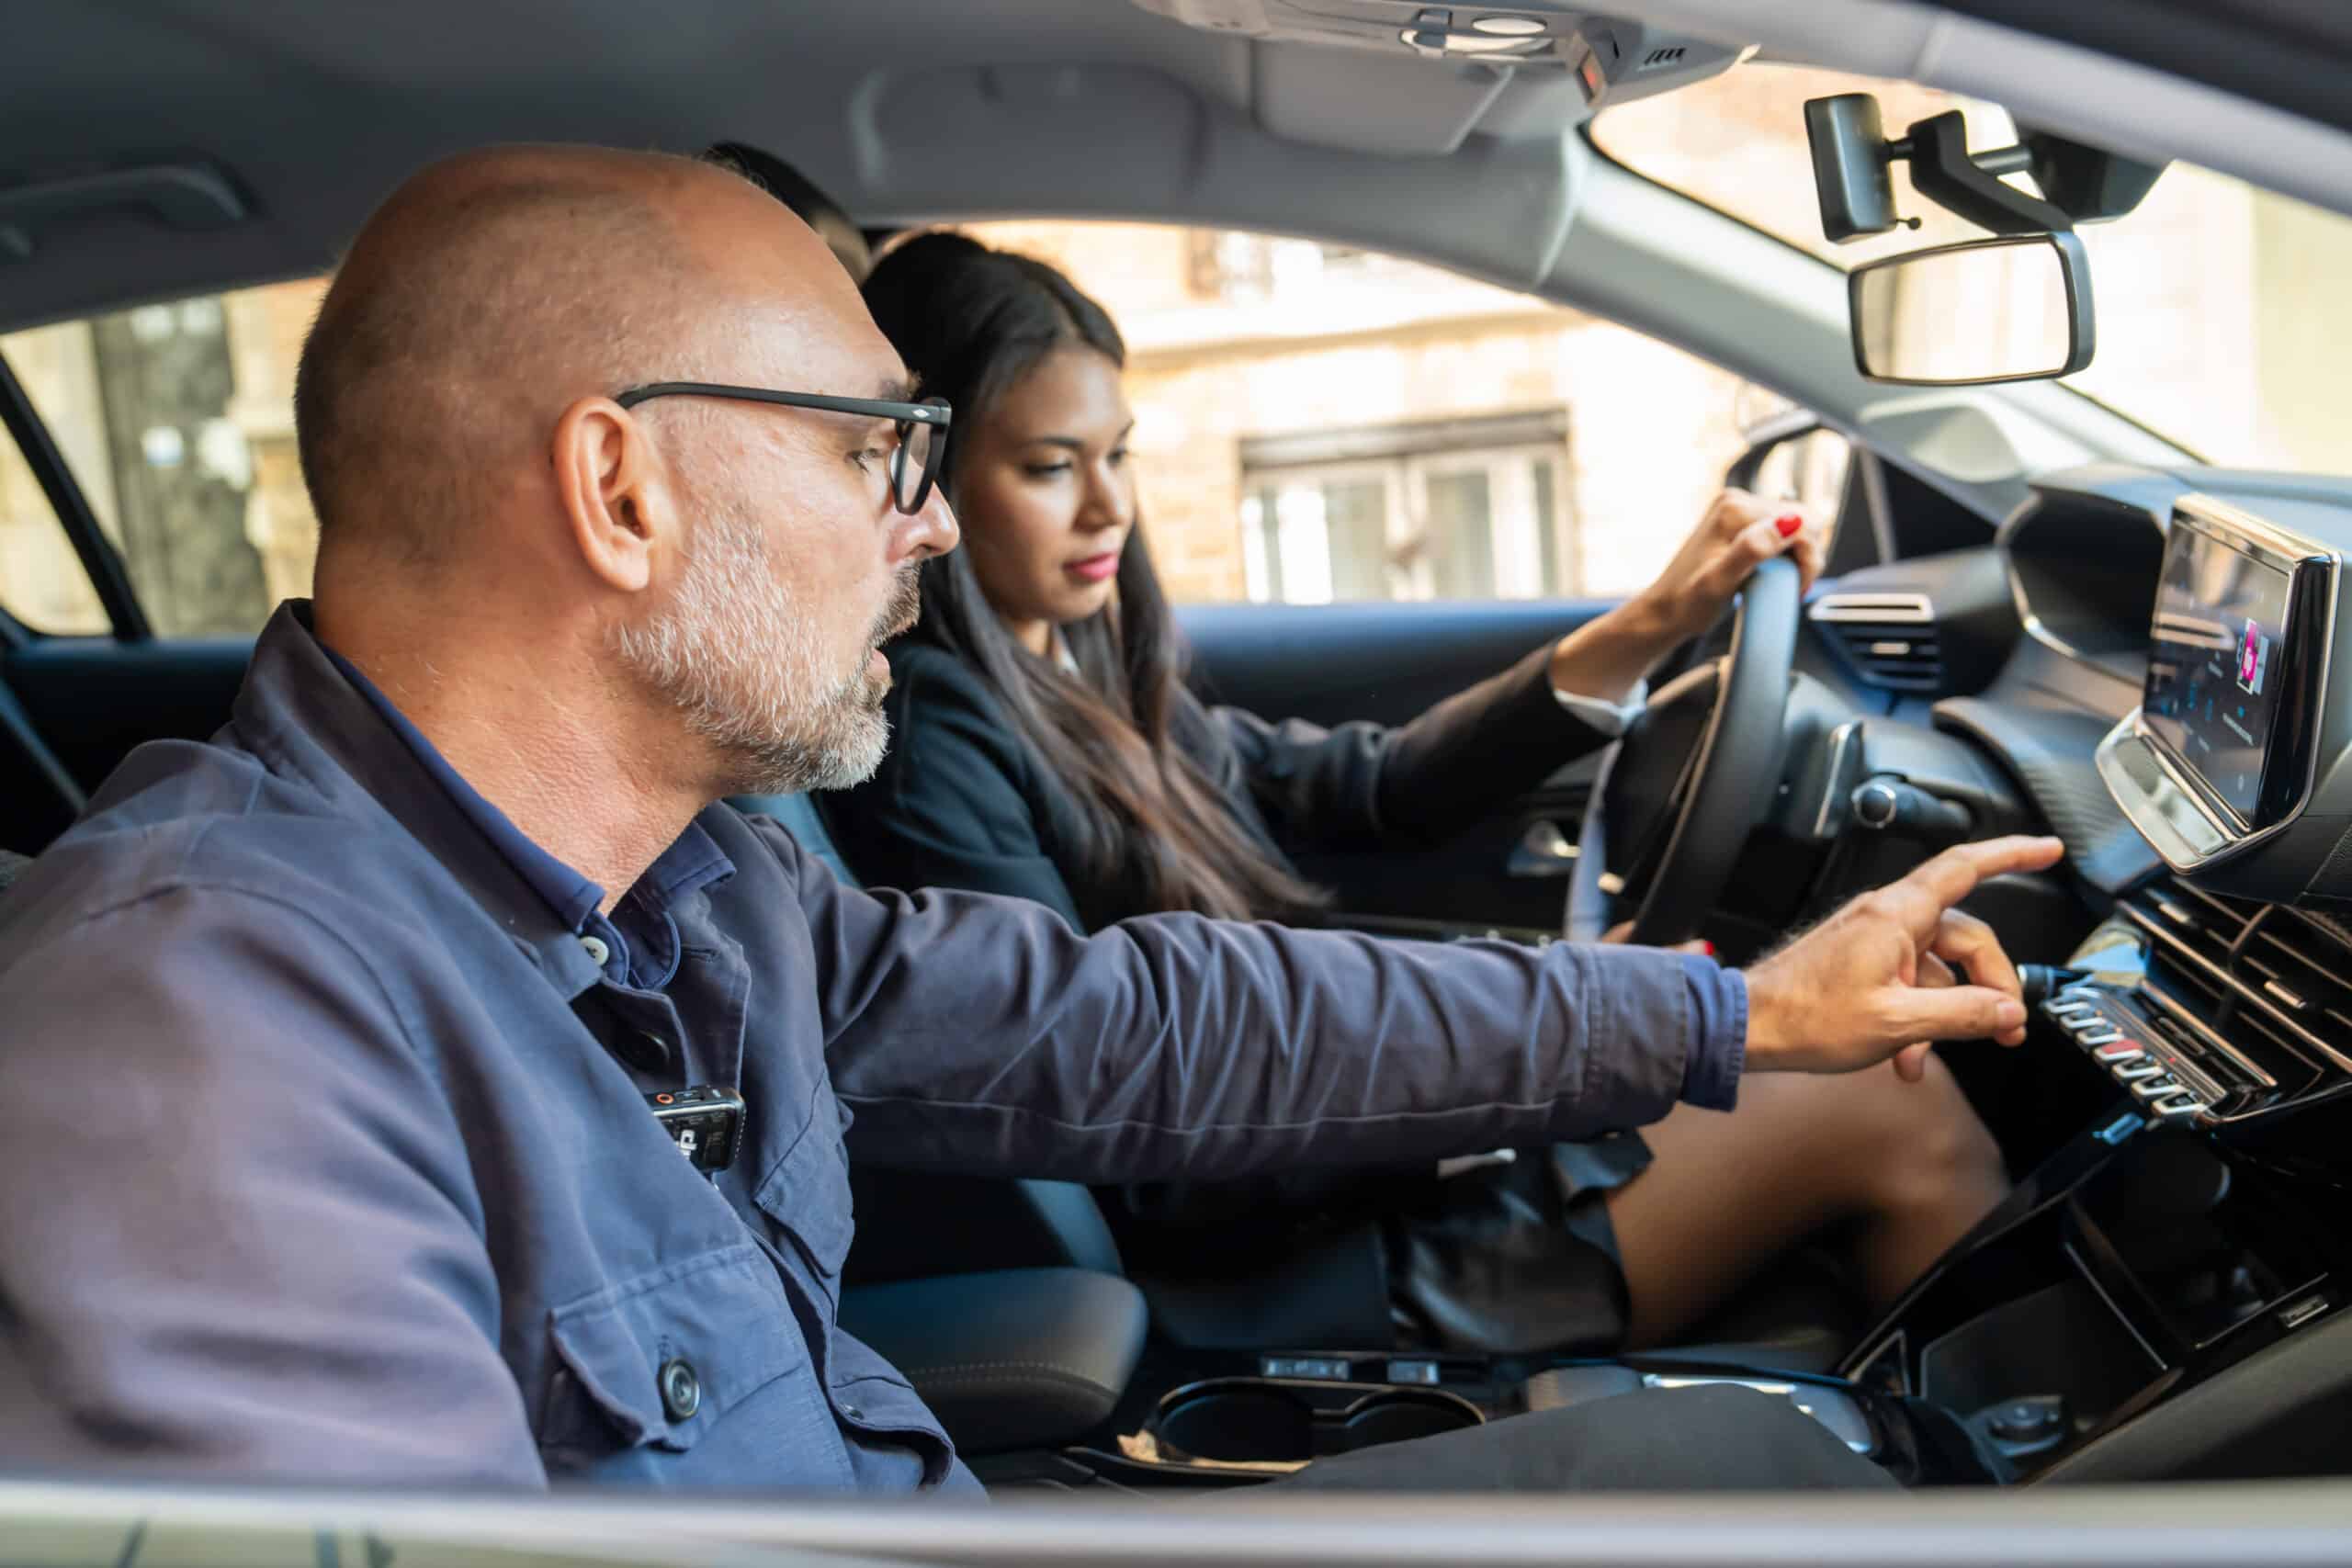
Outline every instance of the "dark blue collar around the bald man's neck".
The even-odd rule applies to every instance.
[[[367,675],[325,646],[310,628],[308,599],[289,599],[263,628],[238,691],[233,729],[247,748],[301,773],[332,804],[360,809],[353,797],[365,795],[390,813],[564,997],[600,978],[579,938],[604,926],[597,912],[604,891],[515,827]],[[492,856],[482,853],[485,844]],[[677,900],[734,870],[717,839],[694,820],[637,877],[628,900],[663,922]]]

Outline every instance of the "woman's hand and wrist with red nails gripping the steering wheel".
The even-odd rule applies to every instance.
[[[1552,649],[1552,684],[1562,691],[1623,701],[1677,644],[1698,637],[1759,562],[1797,562],[1799,597],[1820,576],[1828,522],[1795,501],[1764,501],[1726,489],[1708,503],[1675,559],[1642,592],[1588,621]]]

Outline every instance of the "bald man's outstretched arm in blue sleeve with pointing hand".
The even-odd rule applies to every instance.
[[[800,886],[863,1157],[1108,1182],[1590,1138],[1677,1100],[1729,1107],[1743,1070],[1851,1070],[1915,1039],[2009,1032],[2016,976],[1947,907],[2056,853],[2002,839],[1943,856],[1748,978],[1658,950],[1188,914],[1080,938],[1016,900],[866,896],[814,863]],[[1938,954],[1973,954],[1980,985],[1938,990]]]

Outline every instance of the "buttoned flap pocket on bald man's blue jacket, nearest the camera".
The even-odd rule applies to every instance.
[[[687,1453],[731,1408],[795,1371],[811,1415],[818,1403],[776,1267],[750,1244],[555,1307],[548,1335],[553,1373],[539,1450],[550,1472],[586,1469],[630,1448]]]

